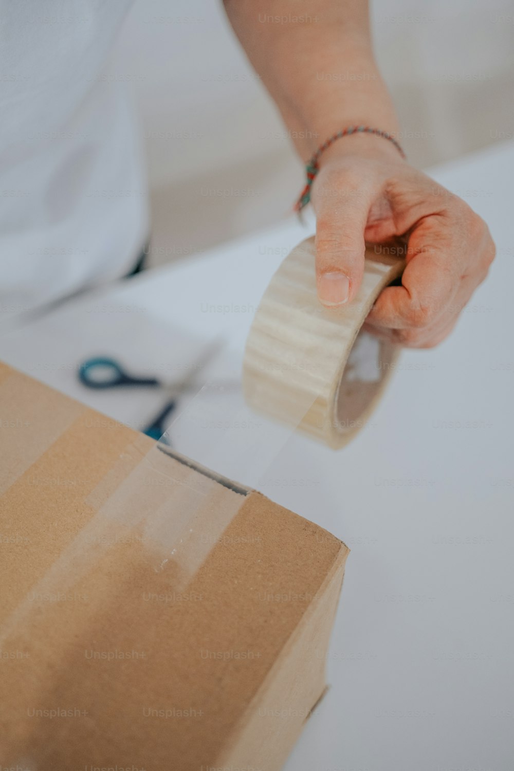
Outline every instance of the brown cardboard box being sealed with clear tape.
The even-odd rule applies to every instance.
[[[0,365],[0,764],[276,771],[347,547]]]

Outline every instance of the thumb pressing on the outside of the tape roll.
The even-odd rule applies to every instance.
[[[323,305],[344,305],[354,298],[364,273],[371,187],[349,185],[339,177],[337,188],[317,188],[313,204],[317,296]]]

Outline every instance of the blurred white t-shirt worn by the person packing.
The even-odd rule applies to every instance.
[[[131,4],[0,2],[0,326],[126,274],[143,248],[136,122],[104,74]]]

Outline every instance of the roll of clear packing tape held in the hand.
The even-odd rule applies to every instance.
[[[366,251],[355,298],[338,308],[317,299],[314,237],[287,255],[264,293],[244,354],[248,404],[338,449],[361,429],[385,387],[399,348],[361,331],[405,260]]]

